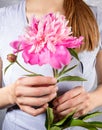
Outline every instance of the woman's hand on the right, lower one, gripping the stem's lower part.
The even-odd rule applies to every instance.
[[[57,118],[63,118],[72,111],[75,111],[75,117],[79,117],[87,114],[96,107],[93,94],[86,92],[81,86],[75,87],[56,98],[53,105]]]

